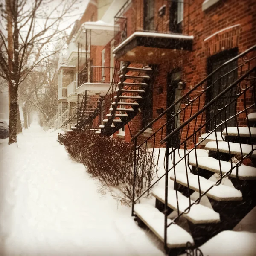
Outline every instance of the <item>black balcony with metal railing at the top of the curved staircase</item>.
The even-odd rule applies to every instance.
[[[161,64],[166,59],[192,51],[189,35],[189,3],[181,0],[128,0],[115,16],[115,49],[119,61]],[[143,14],[143,18],[141,15]]]

